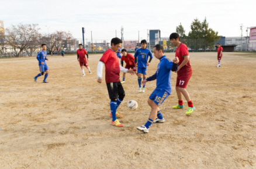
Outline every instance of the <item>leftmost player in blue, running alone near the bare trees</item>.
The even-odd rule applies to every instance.
[[[34,77],[34,82],[36,82],[36,79],[39,76],[42,76],[42,75],[44,75],[44,73],[46,73],[46,75],[44,75],[43,83],[48,83],[46,81],[46,78],[48,77],[49,69],[48,69],[48,66],[46,65],[46,60],[48,61],[49,59],[46,58],[46,56],[47,56],[46,44],[41,44],[41,48],[42,48],[42,50],[38,52],[37,57],[36,57],[37,60],[39,61],[40,73]]]

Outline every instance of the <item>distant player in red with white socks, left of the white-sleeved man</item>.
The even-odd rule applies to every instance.
[[[85,68],[88,69],[89,73],[92,74],[92,72],[88,66],[88,63],[87,63],[87,61],[89,61],[87,51],[84,48],[82,48],[82,44],[79,44],[78,46],[79,46],[79,49],[77,50],[77,60],[81,66],[82,76],[85,76],[84,66],[85,66]],[[85,55],[87,55],[87,58],[85,58]]]

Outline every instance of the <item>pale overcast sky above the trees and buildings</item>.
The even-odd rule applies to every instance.
[[[91,38],[92,31],[94,40],[110,40],[116,30],[120,37],[121,26],[125,40],[137,40],[138,31],[140,39],[147,38],[147,29],[160,29],[161,37],[168,37],[179,23],[188,34],[192,20],[205,17],[210,28],[226,37],[241,36],[241,23],[243,36],[246,27],[256,26],[256,0],[0,0],[0,4],[0,20],[4,20],[5,28],[38,23],[41,33],[69,30],[75,38],[82,38],[81,27],[85,27],[85,38]]]

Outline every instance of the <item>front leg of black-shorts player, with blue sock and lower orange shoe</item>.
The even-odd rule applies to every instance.
[[[110,110],[112,115],[112,125],[123,126],[116,118],[116,105],[118,98],[117,82],[107,83],[109,98],[110,98]]]

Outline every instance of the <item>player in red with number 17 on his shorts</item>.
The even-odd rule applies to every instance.
[[[189,97],[188,91],[186,91],[186,86],[188,85],[188,81],[192,76],[192,68],[189,62],[189,53],[188,53],[188,47],[186,47],[185,44],[181,43],[179,40],[179,34],[178,33],[172,33],[169,36],[169,39],[171,40],[172,44],[177,46],[175,57],[179,58],[179,66],[177,71],[177,82],[176,82],[176,91],[178,96],[178,104],[175,105],[172,108],[183,108],[183,101],[182,101],[182,95],[186,98],[186,101],[188,101],[188,111],[186,111],[186,114],[191,114],[195,110],[195,107],[193,106],[193,103]]]

